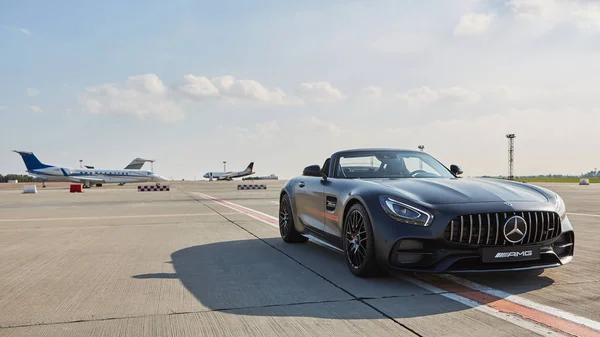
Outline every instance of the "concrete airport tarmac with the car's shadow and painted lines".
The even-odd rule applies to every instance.
[[[359,279],[279,238],[283,181],[238,183],[0,189],[0,336],[600,336],[600,185],[544,185],[567,266]]]

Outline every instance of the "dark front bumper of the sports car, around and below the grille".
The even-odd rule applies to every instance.
[[[393,270],[430,273],[516,271],[558,267],[573,259],[575,235],[566,217],[561,221],[561,232],[557,237],[515,245],[450,242],[444,238],[444,224],[449,218],[430,227],[390,223],[378,215],[374,218],[378,259],[380,264]],[[507,252],[533,248],[536,252],[539,250],[539,258],[511,257],[506,259],[510,262],[495,262],[504,259],[484,262],[483,249],[488,247],[502,248]]]

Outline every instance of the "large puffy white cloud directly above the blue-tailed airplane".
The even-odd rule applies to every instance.
[[[80,104],[91,114],[118,113],[167,122],[185,118],[182,107],[156,74],[130,76],[123,86],[107,83],[89,87],[86,91]]]

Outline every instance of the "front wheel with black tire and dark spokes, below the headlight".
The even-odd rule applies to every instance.
[[[342,237],[348,269],[358,277],[377,277],[383,269],[377,263],[371,220],[360,203],[352,205],[344,218]]]

